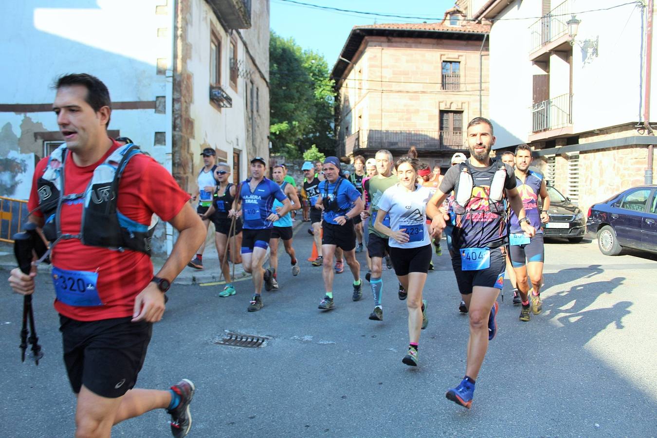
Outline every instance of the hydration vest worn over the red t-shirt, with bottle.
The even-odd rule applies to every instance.
[[[150,225],[129,219],[117,208],[119,181],[125,166],[137,154],[139,147],[132,143],[117,148],[93,171],[91,181],[82,193],[62,194],[64,191],[64,162],[66,143],[59,146],[48,158],[43,175],[37,180],[39,209],[45,217],[43,234],[55,245],[60,239],[79,239],[82,244],[112,250],[139,251],[150,255],[150,240],[157,216],[152,215]],[[62,234],[60,213],[62,202],[84,199],[80,234]]]

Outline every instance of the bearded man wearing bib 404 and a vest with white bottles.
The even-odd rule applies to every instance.
[[[449,168],[438,191],[427,205],[432,217],[432,232],[440,237],[445,219],[439,214],[447,194],[454,191],[455,225],[452,232],[452,268],[461,297],[468,308],[468,339],[465,376],[445,396],[470,408],[474,382],[484,362],[488,341],[497,332],[497,296],[504,284],[507,243],[507,204],[518,214],[522,231],[532,237],[535,230],[525,216],[522,199],[516,190],[513,169],[500,160],[491,160],[495,137],[493,125],[477,117],[468,123],[470,159]]]

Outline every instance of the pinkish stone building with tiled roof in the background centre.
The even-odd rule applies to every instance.
[[[446,170],[466,148],[464,126],[488,113],[488,26],[462,16],[451,9],[440,23],[351,30],[332,70],[342,156],[381,148],[398,156],[415,146]]]

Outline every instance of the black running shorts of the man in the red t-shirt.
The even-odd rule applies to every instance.
[[[137,382],[153,324],[132,318],[78,321],[59,315],[64,365],[74,393],[82,385],[101,397],[122,397]]]

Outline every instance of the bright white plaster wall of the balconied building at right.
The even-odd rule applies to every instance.
[[[612,0],[573,0],[572,11],[617,5]],[[490,114],[495,147],[526,142],[531,133],[532,74],[529,26],[541,16],[541,2],[514,1],[497,18],[490,33]],[[620,125],[639,118],[641,12],[635,5],[585,12],[576,40],[599,37],[599,55],[573,50],[574,133]],[[525,35],[526,37],[523,37]],[[555,58],[555,56],[553,56]],[[654,64],[654,62],[653,62]],[[551,66],[551,97],[568,92],[564,62]],[[652,83],[657,83],[653,79]],[[657,97],[653,89],[653,95]]]

